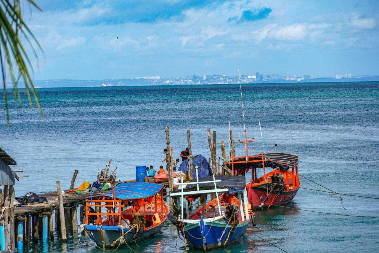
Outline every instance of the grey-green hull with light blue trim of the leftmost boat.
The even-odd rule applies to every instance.
[[[104,247],[105,248],[113,248],[117,247],[120,243],[119,240],[115,242],[117,239],[121,236],[121,229],[124,231],[124,242],[122,244],[129,244],[130,242],[133,242],[134,240],[146,240],[150,237],[155,236],[158,234],[159,231],[161,231],[162,226],[164,222],[167,220],[164,219],[164,221],[161,222],[160,225],[154,226],[150,229],[132,229],[129,228],[120,228],[119,226],[96,226],[96,225],[86,225],[85,229],[87,230],[88,234],[92,237],[92,240],[96,242],[97,245],[99,245],[100,248],[103,248],[103,240],[102,235],[104,238]]]

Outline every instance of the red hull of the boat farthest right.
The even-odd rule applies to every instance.
[[[249,187],[249,185],[247,185]],[[298,193],[299,188],[290,191],[267,190],[266,188],[252,187],[248,189],[249,203],[253,210],[268,208],[272,205],[282,206],[289,204]],[[263,202],[264,201],[264,202]],[[263,205],[262,205],[263,202]]]

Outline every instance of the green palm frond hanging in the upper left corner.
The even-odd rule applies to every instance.
[[[33,0],[24,0],[24,2],[27,2],[31,6],[34,6],[38,10],[42,11]],[[42,119],[44,119],[41,103],[39,102],[36,89],[33,85],[33,80],[30,76],[30,71],[33,73],[33,66],[23,44],[20,41],[21,37],[26,39],[34,57],[38,62],[38,55],[34,49],[33,43],[36,44],[36,47],[42,53],[43,50],[33,33],[23,21],[21,0],[0,0],[0,63],[2,68],[5,111],[8,127],[10,126],[10,123],[8,96],[6,92],[6,73],[8,73],[11,78],[16,107],[19,103],[20,108],[22,108],[22,101],[18,88],[18,83],[22,79],[25,83],[26,94],[30,107],[33,108],[33,98],[30,93],[31,89],[34,101],[41,112]]]

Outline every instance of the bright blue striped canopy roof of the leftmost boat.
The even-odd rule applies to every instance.
[[[122,200],[144,199],[144,198],[148,198],[159,193],[159,191],[162,188],[163,188],[163,185],[158,185],[156,183],[146,183],[146,182],[121,183],[117,185],[116,187],[114,187],[114,194],[115,194],[116,199],[122,199]],[[113,190],[97,195],[96,198],[103,197],[103,196],[112,198]]]

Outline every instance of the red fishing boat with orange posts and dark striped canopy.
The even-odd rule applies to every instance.
[[[298,175],[299,157],[279,152],[262,152],[260,155],[249,156],[247,143],[251,141],[254,141],[254,138],[247,140],[245,130],[245,140],[239,142],[245,143],[246,155],[236,157],[233,151],[232,156],[229,157],[230,160],[226,162],[232,171],[232,175],[245,176],[246,172],[252,170],[252,178],[246,184],[247,196],[252,209],[268,209],[273,205],[288,204],[294,198],[300,186]],[[258,178],[257,171],[260,168],[263,169],[263,176]],[[267,169],[273,170],[266,173]]]

